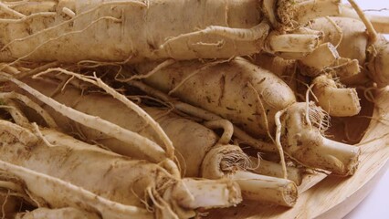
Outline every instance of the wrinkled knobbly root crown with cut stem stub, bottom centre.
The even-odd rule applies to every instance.
[[[297,200],[295,183],[276,177],[247,172],[247,155],[235,145],[218,145],[205,155],[202,176],[208,179],[228,178],[237,182],[243,199],[276,203],[291,207]]]

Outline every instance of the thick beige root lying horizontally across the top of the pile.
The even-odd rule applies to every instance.
[[[258,34],[252,28],[263,20],[259,8],[255,0],[239,4],[235,0],[59,1],[54,11],[36,12],[28,21],[18,20],[19,24],[11,21],[3,24],[5,31],[0,39],[5,47],[0,60],[139,62],[165,57],[229,58],[254,54],[261,50],[262,38],[267,36],[266,31],[252,36],[253,32]],[[44,16],[47,13],[49,16]],[[183,15],[185,22],[176,19],[176,15]],[[191,35],[199,29],[209,30],[210,26],[220,28]],[[156,33],[155,29],[161,31]],[[172,38],[176,40],[160,48]]]

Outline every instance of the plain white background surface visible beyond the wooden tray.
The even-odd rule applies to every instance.
[[[346,1],[343,0],[344,3]],[[382,12],[366,12],[389,16],[389,0],[355,0],[363,9],[383,9]],[[386,36],[389,38],[389,36]],[[373,191],[344,219],[389,219],[389,172],[376,184]]]

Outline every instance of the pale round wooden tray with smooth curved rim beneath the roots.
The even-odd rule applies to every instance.
[[[389,166],[389,87],[376,95],[373,120],[363,140],[360,165],[347,179],[328,176],[304,193],[293,208],[244,202],[235,208],[210,212],[213,218],[342,218],[373,189]]]

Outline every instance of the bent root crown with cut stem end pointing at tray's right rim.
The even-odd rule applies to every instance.
[[[317,127],[306,121],[306,113],[305,103],[295,103],[281,117],[284,151],[310,168],[352,175],[358,166],[360,149],[326,139]]]

